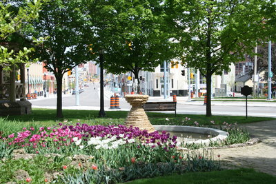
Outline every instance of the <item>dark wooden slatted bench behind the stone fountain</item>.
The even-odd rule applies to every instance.
[[[175,111],[177,115],[177,103],[174,101],[147,102],[143,105],[145,111]]]

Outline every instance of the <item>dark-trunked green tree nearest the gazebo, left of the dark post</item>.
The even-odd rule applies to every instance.
[[[42,7],[34,22],[34,36],[46,38],[36,48],[37,56],[57,80],[57,118],[62,118],[63,74],[87,61],[88,46],[83,34],[86,17],[78,0],[53,0]]]

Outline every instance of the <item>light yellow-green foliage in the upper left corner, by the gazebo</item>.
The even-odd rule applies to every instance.
[[[0,2],[0,65],[8,68],[15,63],[27,63],[28,54],[33,50],[26,48],[26,28],[30,21],[37,19],[42,1],[3,1]],[[19,51],[8,48],[8,42],[19,44]],[[30,46],[30,44],[29,44]]]

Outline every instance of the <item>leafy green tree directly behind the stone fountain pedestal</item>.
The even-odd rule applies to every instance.
[[[113,74],[154,70],[172,55],[173,44],[161,31],[164,11],[161,1],[114,0],[91,3],[90,17],[97,37],[93,50],[105,49],[103,67]],[[101,16],[97,14],[101,12]],[[139,92],[139,88],[138,88]]]

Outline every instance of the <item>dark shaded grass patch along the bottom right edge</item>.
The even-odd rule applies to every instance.
[[[193,172],[181,175],[161,176],[128,182],[128,184],[180,184],[180,183],[276,183],[276,177],[253,169]]]

